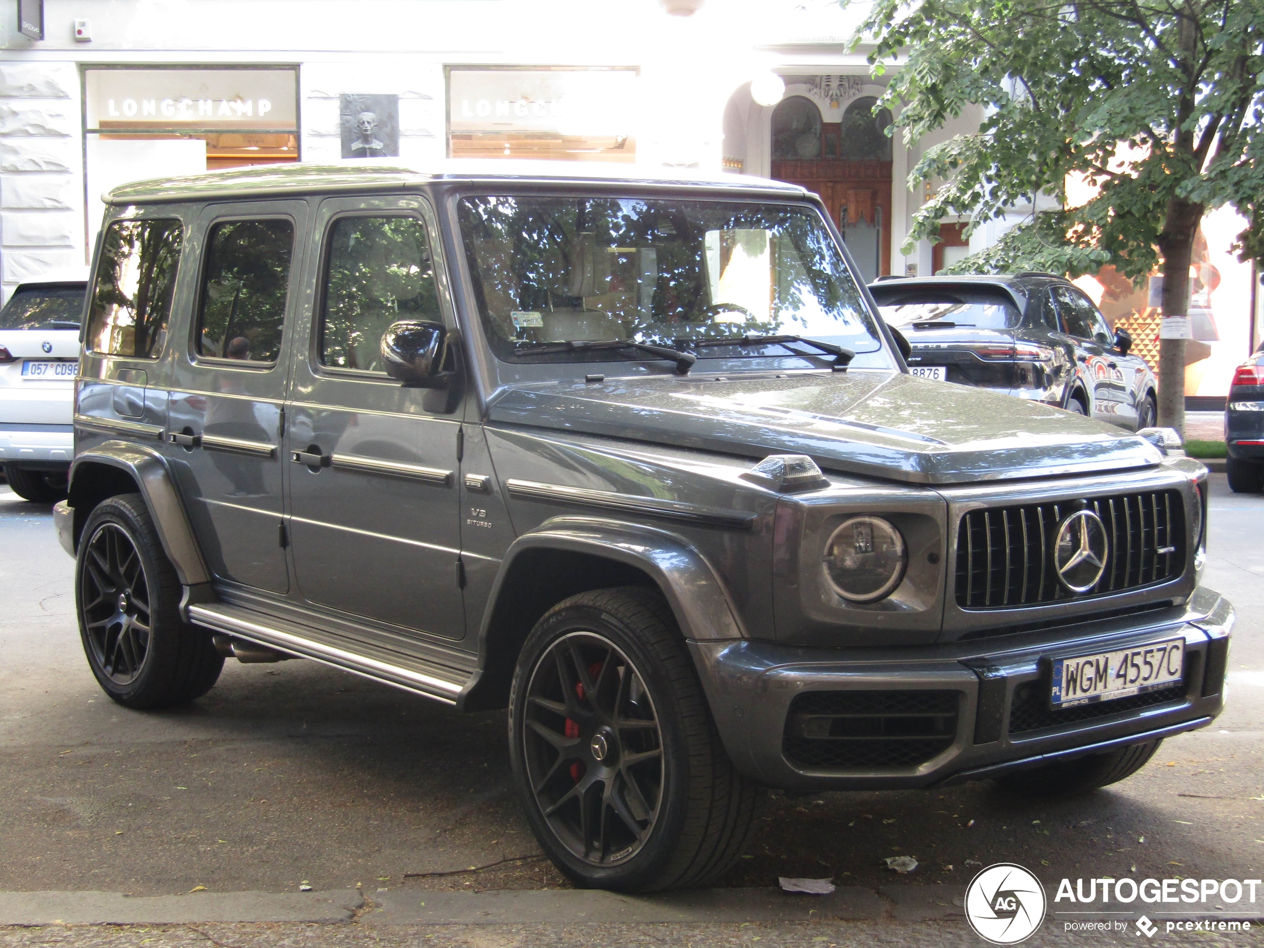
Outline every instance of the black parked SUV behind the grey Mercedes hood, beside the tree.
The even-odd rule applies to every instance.
[[[915,375],[1044,402],[1139,431],[1158,383],[1133,339],[1111,332],[1078,287],[1048,273],[882,279],[882,317],[909,340]]]

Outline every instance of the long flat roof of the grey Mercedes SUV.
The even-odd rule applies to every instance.
[[[798,185],[747,174],[709,173],[691,168],[646,168],[595,162],[528,162],[499,159],[436,161],[411,166],[398,159],[355,159],[331,164],[265,164],[206,174],[154,178],[120,185],[101,196],[111,205],[196,201],[219,197],[305,195],[345,191],[387,191],[435,181],[597,183],[703,187],[715,191],[762,192],[782,198],[804,197]]]

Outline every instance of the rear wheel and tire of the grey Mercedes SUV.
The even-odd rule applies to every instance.
[[[211,633],[181,622],[179,580],[140,494],[102,501],[75,559],[75,607],[88,667],[128,708],[206,694],[224,667]]]

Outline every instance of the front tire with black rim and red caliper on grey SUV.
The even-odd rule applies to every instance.
[[[509,756],[536,838],[585,889],[708,885],[765,800],[728,760],[655,589],[581,593],[536,623],[513,676]]]

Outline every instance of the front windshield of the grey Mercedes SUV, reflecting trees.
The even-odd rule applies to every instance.
[[[652,358],[631,346],[557,345],[598,341],[696,349],[699,358],[790,356],[785,345],[743,336],[800,335],[853,350],[853,365],[891,365],[860,288],[809,209],[495,196],[464,198],[459,216],[501,359]],[[811,365],[833,360],[798,348]]]

